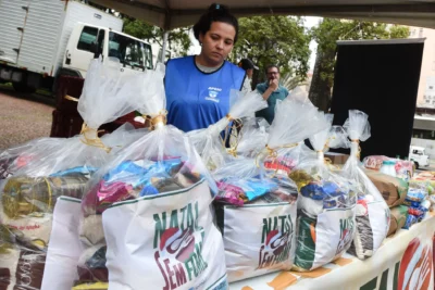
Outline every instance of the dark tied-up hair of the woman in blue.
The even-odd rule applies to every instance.
[[[237,41],[238,36],[238,21],[229,13],[229,9],[225,5],[213,3],[210,5],[209,10],[202,14],[199,21],[194,25],[195,38],[199,41],[199,35],[206,35],[210,30],[210,26],[213,22],[224,22],[234,27],[236,35],[234,37],[234,42]]]

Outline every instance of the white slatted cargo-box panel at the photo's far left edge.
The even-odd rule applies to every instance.
[[[16,64],[29,0],[0,1],[0,61]]]

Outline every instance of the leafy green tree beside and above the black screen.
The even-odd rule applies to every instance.
[[[326,111],[334,84],[334,66],[337,40],[407,38],[409,28],[375,23],[324,18],[311,31],[318,42],[318,54],[309,98]]]

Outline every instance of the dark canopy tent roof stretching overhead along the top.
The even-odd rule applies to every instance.
[[[166,30],[194,24],[213,2],[236,16],[306,15],[435,28],[435,0],[90,0]]]

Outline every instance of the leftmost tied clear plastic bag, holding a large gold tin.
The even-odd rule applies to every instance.
[[[129,140],[130,134],[134,136],[126,125],[112,135],[101,139],[97,137],[98,126],[133,111],[132,106],[125,105],[125,99],[111,94],[122,90],[117,79],[119,71],[119,62],[107,60],[103,64],[101,60],[94,60],[78,101],[86,124],[91,125],[85,125],[83,134],[73,138],[44,138],[28,143],[21,152],[21,156],[30,156],[28,162],[16,167],[14,175],[4,180],[0,220],[3,230],[12,237],[11,249],[18,257],[9,261],[11,265],[16,262],[17,268],[10,269],[16,272],[16,275],[4,278],[12,279],[9,280],[12,287],[41,289],[42,278],[49,275],[45,273],[45,261],[58,198],[66,196],[80,199],[89,176],[113,157],[120,147]],[[99,89],[89,90],[89,87]],[[126,136],[127,138],[120,139]],[[21,266],[23,263],[32,266]],[[53,289],[52,287],[54,286],[50,285],[46,289]]]

